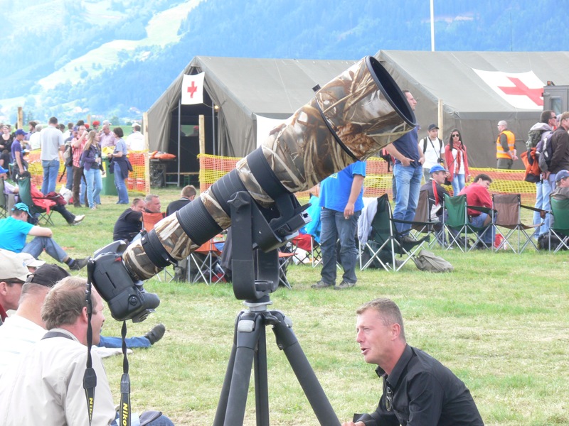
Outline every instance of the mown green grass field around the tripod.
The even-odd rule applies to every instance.
[[[178,197],[178,190],[156,192],[163,210]],[[124,209],[115,201],[103,197],[97,211],[80,209],[87,214],[80,226],[67,226],[58,215],[55,239],[71,256],[87,256],[109,243]],[[437,253],[453,264],[453,273],[424,273],[413,263],[398,273],[357,271],[355,288],[334,291],[310,288],[319,279],[319,268],[290,266],[292,290],[280,288],[272,295],[272,308],[294,323],[339,419],[376,408],[381,382],[375,366],[359,354],[354,311],[374,297],[390,297],[403,312],[408,342],[467,384],[486,425],[569,425],[566,252]],[[161,305],[147,321],[129,324],[129,335],[144,334],[158,322],[167,331],[161,342],[135,350],[129,358],[134,410],[162,410],[176,425],[211,425],[235,316],[243,305],[228,284],[152,279],[145,287],[159,294]],[[121,324],[105,313],[103,334],[119,335]],[[318,425],[268,330],[267,352],[271,424]],[[118,403],[122,357],[105,359],[105,366]],[[255,425],[254,412],[250,387],[246,425]]]

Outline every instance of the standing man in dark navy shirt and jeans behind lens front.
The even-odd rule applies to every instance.
[[[413,111],[417,101],[413,94],[408,90],[403,90],[407,102]],[[425,163],[425,155],[418,146],[417,128],[398,138],[397,141],[385,147],[395,158],[393,165],[393,178],[395,178],[395,209],[393,209],[393,219],[412,221],[415,217],[417,202],[419,201],[419,190],[422,178],[422,163]],[[403,239],[408,239],[411,225],[395,222],[395,228]]]

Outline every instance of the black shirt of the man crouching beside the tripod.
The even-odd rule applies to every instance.
[[[478,408],[464,383],[420,349],[407,345],[389,375],[374,413],[354,415],[366,426],[483,426]],[[389,389],[388,389],[389,387]],[[391,410],[386,405],[390,395]]]

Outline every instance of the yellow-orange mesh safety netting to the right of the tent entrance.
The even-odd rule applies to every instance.
[[[220,157],[200,154],[200,190],[205,191],[225,173],[235,168],[240,158]],[[387,171],[387,163],[383,158],[369,158],[366,162],[366,179],[363,181],[364,197],[379,197],[385,192],[392,195],[392,172]],[[472,179],[480,173],[492,178],[490,192],[497,194],[520,194],[524,204],[533,204],[536,199],[536,185],[523,180],[524,170],[499,170],[494,168],[470,168]],[[471,179],[471,182],[472,182]],[[452,195],[452,187],[447,186]],[[297,192],[301,202],[309,200],[308,192]]]

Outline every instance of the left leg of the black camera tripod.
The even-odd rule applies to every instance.
[[[262,327],[264,327],[262,315],[245,312],[239,319],[235,364],[231,376],[224,426],[243,425],[253,357]]]

